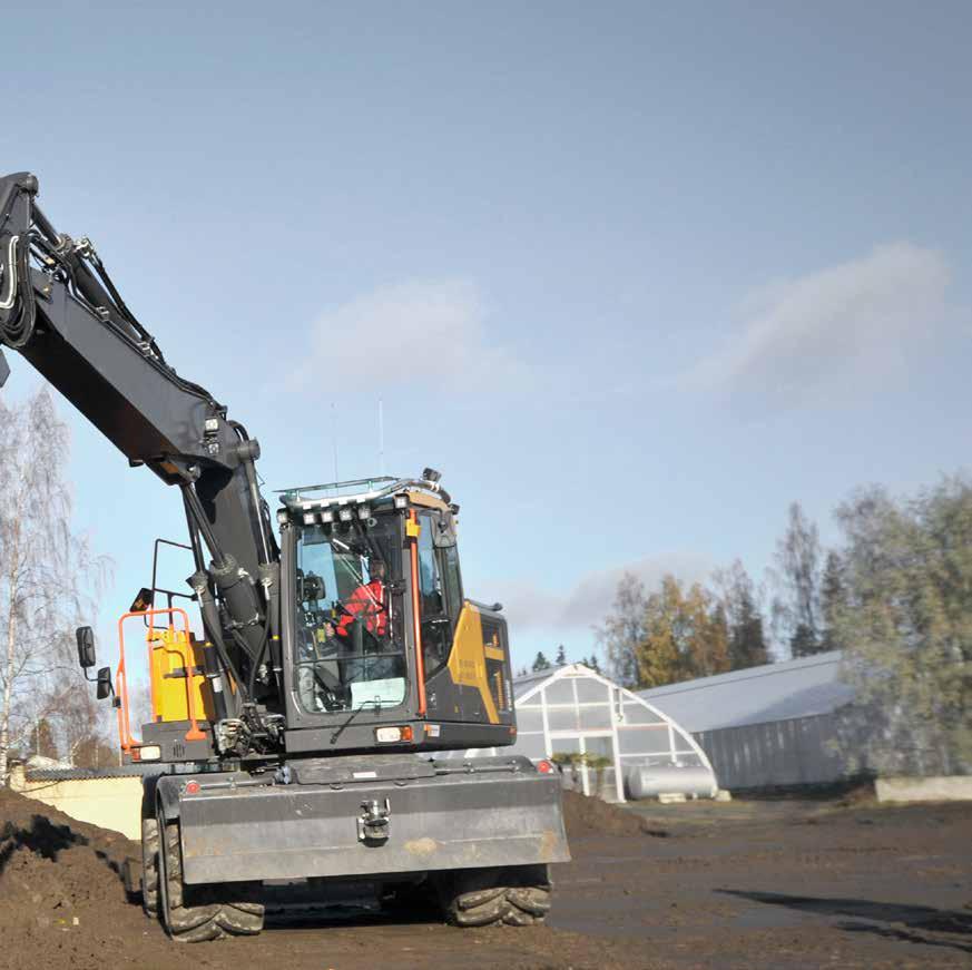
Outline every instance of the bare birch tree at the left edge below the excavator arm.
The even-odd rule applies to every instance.
[[[57,724],[67,695],[87,689],[73,629],[109,562],[71,528],[68,447],[47,389],[21,405],[0,401],[0,785],[37,718]]]

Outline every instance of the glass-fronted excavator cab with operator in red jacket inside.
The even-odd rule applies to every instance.
[[[463,596],[438,472],[283,494],[287,749],[512,744],[505,620]]]

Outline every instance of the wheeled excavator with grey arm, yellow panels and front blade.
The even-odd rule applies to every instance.
[[[160,587],[157,540],[114,678],[91,677],[77,630],[144,775],[128,879],[146,913],[181,942],[254,934],[271,890],[300,884],[424,900],[461,927],[541,922],[549,865],[570,858],[558,773],[445,756],[512,745],[517,721],[507,623],[464,594],[440,473],[291,488],[272,511],[257,440],[176,372],[38,194],[30,173],[0,178],[0,385],[6,347],[173,488],[187,539],[171,545],[194,564],[184,590]],[[151,693],[138,734],[132,625]]]

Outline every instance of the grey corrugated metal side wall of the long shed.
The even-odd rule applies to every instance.
[[[837,715],[700,731],[695,735],[723,788],[826,784],[847,777]]]

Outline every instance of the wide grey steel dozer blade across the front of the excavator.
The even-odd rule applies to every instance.
[[[188,793],[185,776],[159,787],[180,786],[187,883],[568,861],[559,778],[490,761],[430,777],[242,786],[200,775]]]

